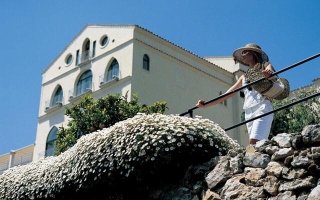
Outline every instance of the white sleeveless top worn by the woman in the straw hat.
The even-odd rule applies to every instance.
[[[244,81],[245,77],[242,78],[242,86],[246,85]],[[252,85],[250,85],[252,90],[248,90],[247,87],[243,88],[244,91],[244,103],[243,109],[253,107],[259,103],[261,103],[264,99],[269,99],[269,97],[260,94],[256,90],[253,89]]]

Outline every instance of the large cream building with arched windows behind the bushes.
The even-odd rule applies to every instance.
[[[231,53],[231,52],[230,52]],[[166,101],[164,114],[179,114],[198,99],[224,93],[247,70],[232,56],[200,57],[135,24],[87,24],[43,70],[33,159],[52,155],[55,132],[67,126],[64,106],[91,93],[137,92],[141,104]],[[226,128],[241,121],[243,94],[194,115]],[[226,133],[248,144],[243,127]]]

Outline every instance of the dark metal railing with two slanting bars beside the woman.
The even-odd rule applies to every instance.
[[[307,62],[307,61],[312,60],[312,59],[314,59],[314,58],[316,58],[316,57],[319,57],[319,56],[320,56],[320,53],[317,53],[317,54],[315,54],[315,55],[312,55],[312,56],[310,56],[310,57],[308,57],[308,58],[306,58],[306,59],[304,59],[304,60],[301,60],[301,61],[299,61],[299,62],[296,62],[296,63],[294,63],[294,64],[291,64],[290,66],[287,66],[287,67],[285,67],[285,68],[283,68],[283,69],[281,69],[281,70],[274,71],[273,73],[271,73],[271,74],[269,75],[269,77],[272,77],[273,75],[282,73],[283,71],[289,70],[289,69],[291,69],[291,68],[293,68],[293,67],[295,67],[295,66],[298,66],[298,65],[300,65],[300,64],[303,64],[304,62]],[[202,105],[205,105],[205,104],[210,103],[210,102],[212,102],[212,101],[215,101],[215,100],[218,100],[218,99],[220,99],[220,98],[223,98],[224,96],[227,96],[227,95],[229,95],[229,94],[231,94],[231,93],[234,93],[234,92],[236,92],[236,91],[239,91],[239,90],[241,90],[241,89],[243,89],[243,88],[245,88],[245,87],[248,87],[248,86],[250,86],[250,85],[252,85],[252,84],[255,84],[255,83],[259,82],[259,81],[262,81],[262,80],[264,80],[264,79],[267,79],[267,77],[263,77],[263,78],[257,79],[257,80],[255,80],[255,81],[253,81],[253,82],[249,82],[248,84],[245,84],[244,86],[238,87],[238,88],[233,89],[233,90],[231,90],[231,91],[229,91],[229,92],[227,92],[227,93],[221,94],[221,95],[219,95],[219,96],[217,96],[217,97],[215,97],[215,98],[212,98],[212,99],[210,99],[210,100],[208,100],[208,101],[203,102]],[[315,93],[315,94],[319,95],[318,93]],[[313,95],[314,95],[314,94],[313,94]],[[310,95],[310,96],[314,97],[313,95]],[[307,97],[302,98],[302,99],[307,100],[307,99],[309,99],[309,98],[312,98],[312,97],[310,97],[310,96],[307,96]],[[316,95],[315,95],[315,96],[316,96]],[[309,98],[308,98],[308,97],[309,97]],[[302,101],[303,101],[303,100],[302,100]],[[289,103],[289,104],[287,104],[287,105],[288,105],[288,106],[294,105],[294,104],[296,104],[296,103],[298,103],[298,102],[301,102],[301,100],[295,101],[294,103]],[[284,106],[286,106],[286,105],[284,105]],[[283,108],[282,108],[282,107],[279,107],[279,108],[282,108],[282,109],[286,108],[286,107],[284,107],[284,106],[282,106]],[[183,112],[183,113],[179,114],[179,116],[183,116],[183,115],[189,113],[189,117],[192,117],[192,110],[197,109],[197,108],[199,108],[199,107],[197,107],[197,106],[190,107],[186,112]],[[278,111],[278,110],[280,110],[279,108],[277,108],[277,109],[275,109],[275,110]],[[239,125],[242,125],[242,124],[244,124],[244,123],[247,123],[247,122],[249,122],[249,121],[252,121],[252,120],[254,120],[254,119],[256,119],[256,118],[265,116],[265,115],[267,115],[267,114],[271,114],[271,113],[273,113],[273,112],[275,112],[275,111],[272,110],[272,111],[267,112],[267,113],[264,113],[264,114],[262,114],[262,115],[260,115],[260,116],[256,116],[256,117],[254,117],[254,118],[252,118],[252,119],[248,119],[248,120],[246,120],[246,121],[242,121],[242,122],[240,122],[240,123],[238,123],[238,124],[235,124],[235,125],[233,125],[233,126],[230,126],[230,127],[228,127],[228,128],[225,128],[224,130],[225,130],[225,131],[226,131],[226,130],[229,130],[229,129],[231,129],[231,128],[237,127],[237,126],[239,126]]]

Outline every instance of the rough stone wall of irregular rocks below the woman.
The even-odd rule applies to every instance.
[[[320,199],[320,123],[191,165],[148,199]]]

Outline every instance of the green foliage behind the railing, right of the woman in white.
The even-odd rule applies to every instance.
[[[283,100],[272,100],[272,107],[273,109],[276,109],[295,100],[319,92],[319,90],[318,87],[311,85],[309,89],[300,89],[293,92],[294,97],[292,99],[285,98]],[[282,132],[300,132],[306,125],[316,124],[319,121],[320,97],[317,96],[275,112],[269,138]]]

